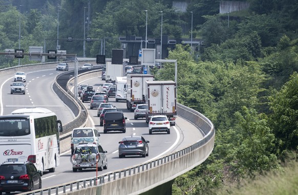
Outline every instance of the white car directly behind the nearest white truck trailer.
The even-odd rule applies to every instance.
[[[149,134],[152,132],[167,132],[169,131],[170,124],[166,115],[153,115],[149,121]]]

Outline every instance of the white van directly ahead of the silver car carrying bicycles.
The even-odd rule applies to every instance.
[[[71,134],[70,148],[71,153],[73,154],[74,149],[78,144],[100,144],[99,136],[97,129],[92,127],[79,127],[74,128]]]

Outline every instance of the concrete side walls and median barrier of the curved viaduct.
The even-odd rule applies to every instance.
[[[56,63],[47,63],[39,65],[25,65],[22,67],[13,67],[0,70],[1,74],[14,73],[22,68],[23,71],[43,68],[55,68]],[[98,75],[99,70],[93,70],[87,73],[79,74],[78,80],[84,80],[86,77]],[[63,102],[73,111],[76,118],[74,121],[63,126],[65,131],[60,135],[61,151],[69,149],[70,131],[74,126],[89,126],[88,112],[84,105],[73,98],[70,90],[63,89],[59,82],[70,78],[69,72],[56,76],[53,90],[57,93]],[[64,77],[63,77],[64,75]],[[187,119],[195,124],[198,130],[204,132],[204,137],[196,143],[190,144],[177,152],[146,162],[133,167],[108,172],[97,178],[89,178],[79,181],[73,181],[49,189],[42,189],[48,194],[68,193],[68,194],[140,194],[158,191],[158,193],[171,193],[171,186],[176,177],[193,169],[204,162],[214,147],[215,129],[213,124],[201,113],[177,105],[177,113],[180,117]],[[163,191],[161,191],[163,190]],[[30,192],[32,193],[32,192]],[[35,190],[35,194],[40,194],[40,190]],[[22,193],[29,194],[29,193]]]

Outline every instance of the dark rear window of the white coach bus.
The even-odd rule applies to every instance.
[[[1,118],[0,136],[23,136],[30,134],[29,119]]]

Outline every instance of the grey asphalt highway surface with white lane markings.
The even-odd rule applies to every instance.
[[[70,67],[70,71],[73,68]],[[10,94],[10,84],[13,82],[13,75],[4,75],[1,77],[0,88],[0,106],[1,115],[9,114],[11,111],[23,107],[45,107],[57,114],[58,119],[66,124],[74,119],[74,115],[70,109],[58,98],[53,92],[51,86],[57,74],[61,73],[56,69],[35,70],[27,72],[26,94]],[[101,90],[100,84],[104,83],[100,77],[90,78],[82,83],[88,83],[97,91]],[[126,109],[125,102],[117,102],[114,97],[110,97],[112,102],[119,110],[124,112],[127,117],[126,133],[109,132],[103,133],[103,127],[99,126],[99,118],[97,117],[97,110],[90,110],[90,103],[84,103],[93,120],[94,127],[100,133],[100,142],[104,150],[107,150],[108,169],[99,171],[98,175],[123,169],[126,167],[138,165],[156,158],[164,154],[180,150],[186,146],[203,138],[198,129],[191,123],[178,116],[176,126],[171,127],[171,134],[156,133],[149,135],[148,127],[144,119],[134,120],[133,112]],[[118,158],[118,142],[123,136],[142,135],[146,140],[150,141],[149,156],[142,157],[126,157],[124,159]],[[70,163],[70,150],[63,151],[60,157],[60,165],[56,167],[56,171],[49,173],[45,171],[42,176],[42,187],[50,187],[69,181],[75,181],[84,178],[93,178],[96,176],[95,170],[83,170],[78,172],[72,171],[72,164]]]

